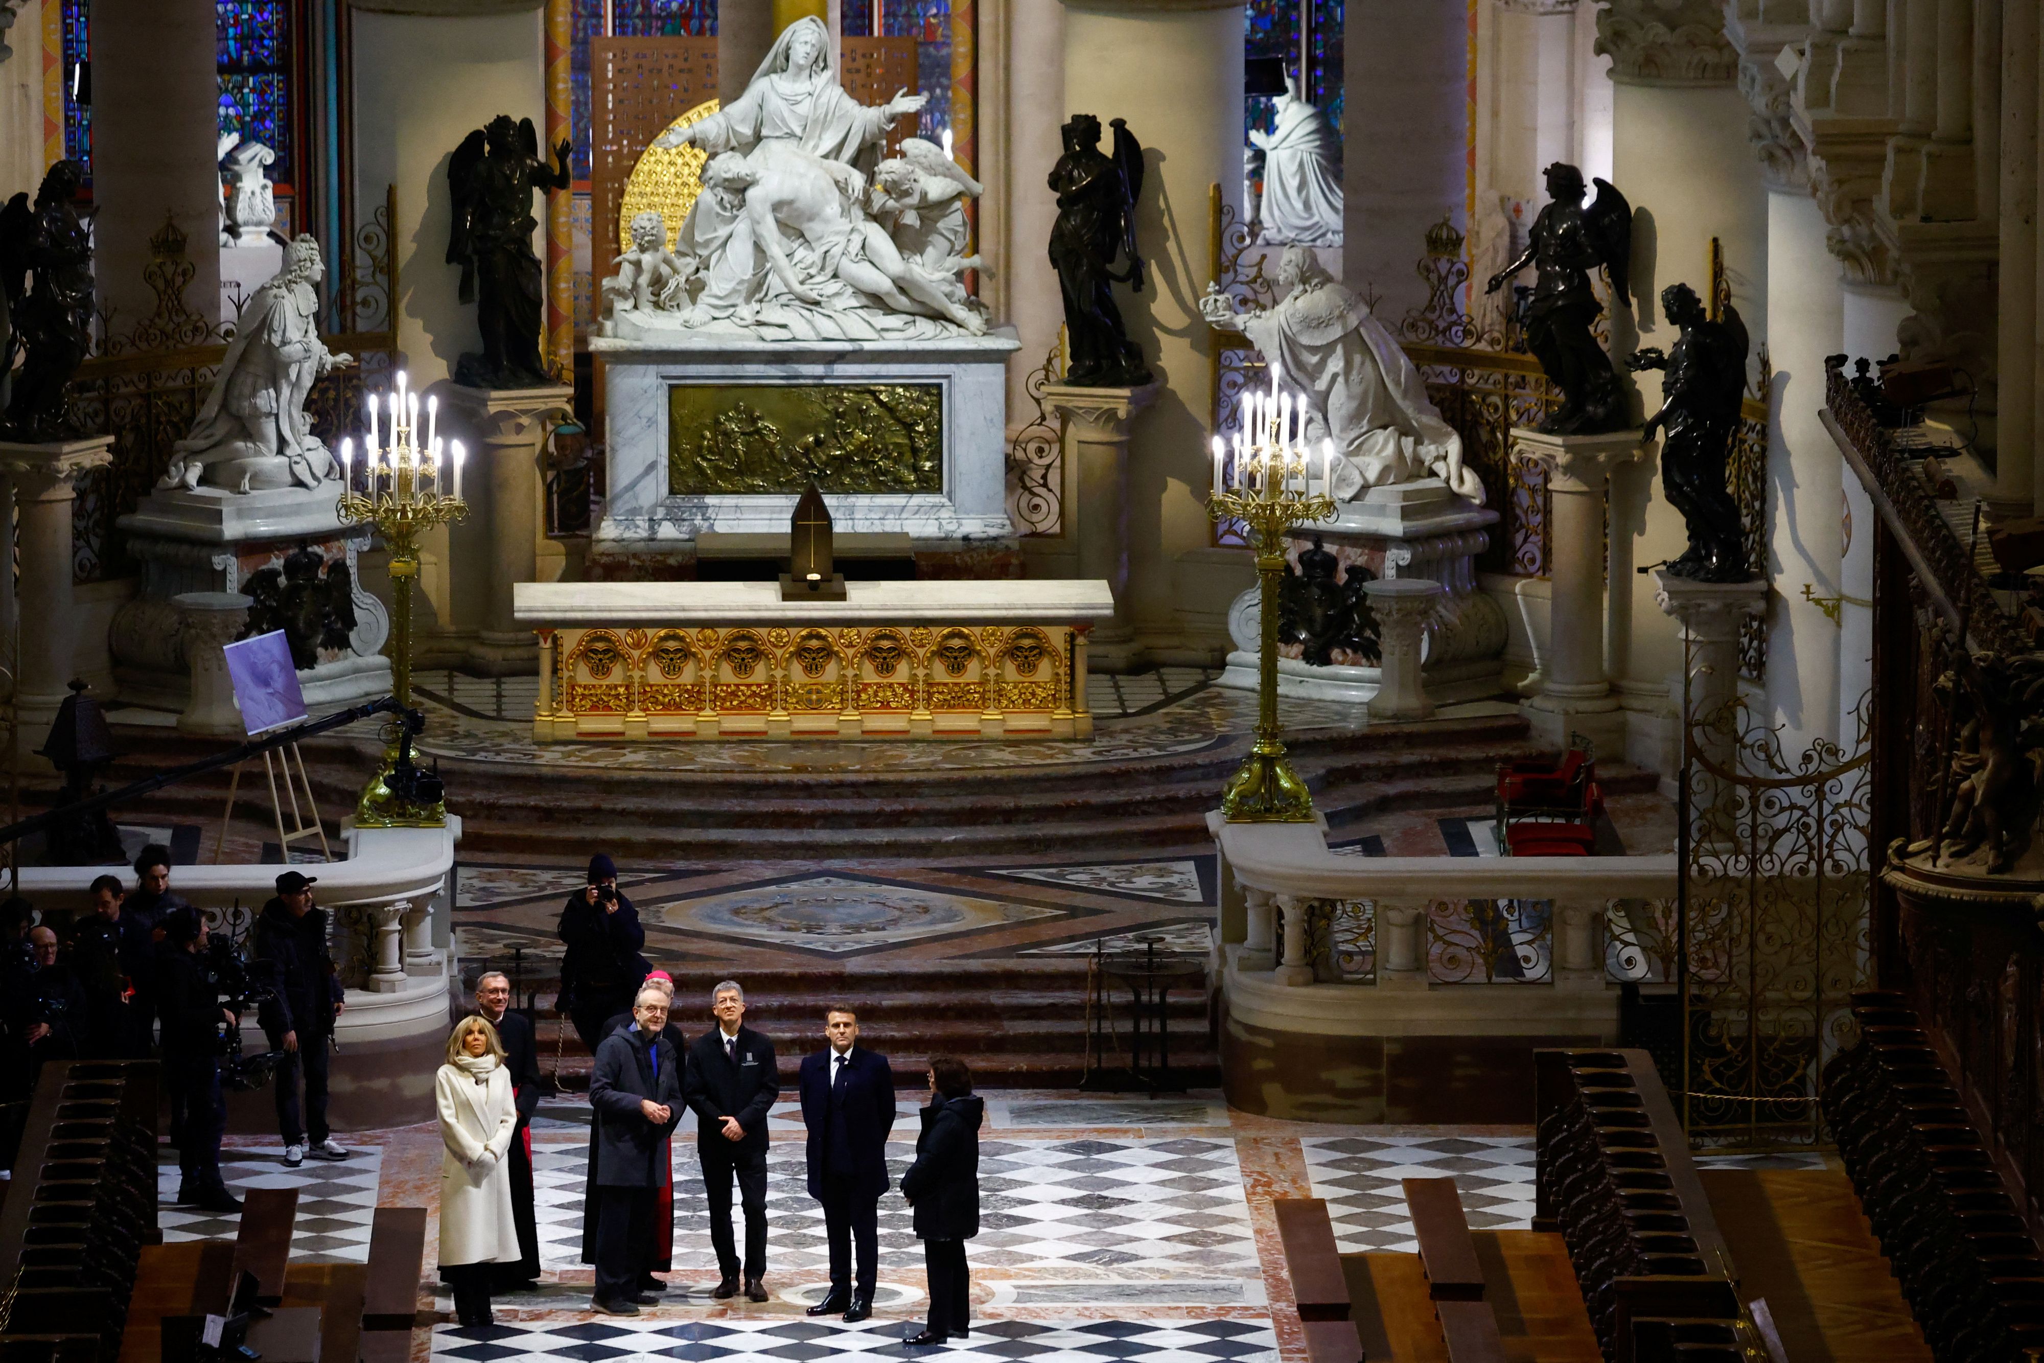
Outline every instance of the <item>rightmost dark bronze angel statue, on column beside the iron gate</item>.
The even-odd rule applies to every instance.
[[[1662,486],[1688,527],[1688,550],[1668,564],[1668,572],[1699,582],[1744,582],[1752,566],[1746,562],[1739,503],[1725,488],[1725,468],[1746,396],[1746,323],[1729,302],[1723,319],[1711,321],[1688,284],[1662,290],[1662,313],[1682,331],[1674,349],[1635,349],[1625,368],[1635,374],[1666,370],[1662,409],[1647,419],[1645,439],[1668,427]]]

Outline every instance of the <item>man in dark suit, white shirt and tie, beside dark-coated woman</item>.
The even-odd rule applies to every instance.
[[[858,1042],[858,1016],[848,1007],[824,1014],[830,1044],[805,1056],[801,1122],[809,1128],[809,1195],[824,1204],[830,1236],[830,1296],[811,1316],[844,1312],[846,1322],[873,1314],[879,1281],[879,1202],[887,1191],[887,1132],[893,1130],[893,1071],[887,1056]],[[852,1242],[858,1281],[852,1283]]]

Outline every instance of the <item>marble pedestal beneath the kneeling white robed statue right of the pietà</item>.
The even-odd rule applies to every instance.
[[[1300,552],[1320,539],[1341,562],[1339,582],[1357,566],[1376,580],[1439,582],[1439,605],[1423,636],[1425,693],[1435,705],[1482,701],[1504,691],[1504,611],[1476,586],[1476,556],[1490,548],[1496,523],[1496,511],[1455,497],[1439,478],[1419,478],[1369,488],[1361,501],[1343,503],[1333,521],[1292,529],[1286,556],[1296,570]],[[1259,609],[1257,586],[1228,609],[1235,652],[1220,674],[1222,687],[1257,689]],[[1367,703],[1382,683],[1380,666],[1343,650],[1325,666],[1278,658],[1278,695],[1302,701]]]

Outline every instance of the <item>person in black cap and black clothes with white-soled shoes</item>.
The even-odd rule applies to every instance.
[[[284,1165],[296,1169],[305,1157],[347,1159],[327,1128],[327,1061],[333,1020],[343,1003],[341,977],[327,954],[327,913],[313,907],[319,877],[286,871],[276,879],[276,897],[256,920],[256,960],[276,975],[278,1018],[266,1022],[276,1063],[276,1126],[284,1138]],[[298,1075],[305,1073],[305,1120],[298,1118]],[[311,1142],[307,1142],[311,1134]]]

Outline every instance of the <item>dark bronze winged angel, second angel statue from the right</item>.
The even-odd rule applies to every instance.
[[[1623,431],[1631,421],[1625,390],[1611,368],[1611,356],[1596,341],[1602,304],[1590,288],[1590,270],[1611,276],[1617,307],[1629,307],[1629,266],[1633,257],[1633,206],[1609,180],[1596,182],[1596,200],[1582,204],[1582,172],[1555,161],[1547,168],[1547,196],[1553,200],[1533,219],[1527,249],[1490,276],[1484,292],[1533,266],[1539,274],[1527,309],[1527,347],[1549,382],[1562,390],[1562,407],[1539,429],[1549,435],[1602,435]]]

